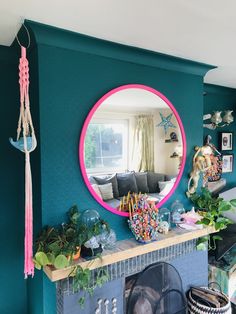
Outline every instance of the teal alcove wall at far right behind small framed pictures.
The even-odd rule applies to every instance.
[[[236,89],[227,88],[217,85],[204,85],[204,114],[212,113],[219,110],[234,110],[234,116],[236,113]],[[208,123],[208,122],[207,122]],[[236,152],[236,121],[229,126],[221,129],[209,130],[204,128],[204,137],[208,134],[212,136],[212,142],[220,149],[219,146],[219,134],[220,132],[234,132],[234,146],[233,151],[224,151],[222,154],[235,154]],[[234,156],[236,158],[236,155]],[[230,189],[236,186],[236,162],[234,162],[233,172],[225,173],[222,178],[227,180],[225,189]]]

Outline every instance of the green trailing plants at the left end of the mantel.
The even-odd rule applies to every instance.
[[[80,250],[91,237],[98,236],[109,226],[103,220],[99,220],[92,227],[79,224],[79,211],[73,206],[68,211],[68,222],[58,227],[46,226],[42,229],[35,241],[36,253],[33,261],[37,269],[49,265],[56,269],[62,269],[73,265],[74,290],[83,291],[83,296],[78,300],[83,307],[85,295],[92,295],[95,288],[101,287],[109,280],[105,269],[101,268],[91,281],[92,274],[89,268],[83,269],[79,264],[73,263],[80,257]],[[92,257],[100,257],[94,254]],[[90,256],[91,258],[91,256]]]

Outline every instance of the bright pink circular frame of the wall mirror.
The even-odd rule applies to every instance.
[[[118,210],[116,210],[115,208],[109,206],[108,204],[106,204],[100,197],[97,196],[97,194],[95,193],[95,191],[93,190],[90,182],[89,182],[89,179],[88,179],[88,176],[87,176],[87,173],[86,173],[86,168],[85,168],[85,162],[84,162],[84,142],[85,142],[85,136],[86,136],[86,131],[87,131],[87,128],[88,128],[88,125],[89,125],[89,122],[90,120],[92,119],[94,113],[96,112],[96,110],[98,109],[98,107],[108,98],[110,97],[111,95],[119,92],[119,91],[122,91],[122,90],[125,90],[125,89],[128,89],[128,88],[140,88],[140,89],[144,89],[146,91],[149,91],[155,95],[157,95],[158,97],[160,97],[163,101],[166,102],[166,104],[170,107],[170,109],[173,111],[174,115],[175,115],[175,118],[176,120],[178,121],[178,124],[179,124],[179,127],[180,127],[180,131],[181,131],[181,136],[182,136],[182,143],[183,143],[183,157],[182,157],[182,162],[181,162],[181,167],[180,167],[180,170],[179,170],[179,174],[178,174],[178,177],[175,181],[175,184],[172,188],[172,190],[170,191],[170,193],[168,193],[167,196],[165,196],[159,203],[158,203],[158,207],[160,208],[170,197],[171,195],[174,193],[174,191],[176,190],[179,182],[180,182],[180,179],[183,175],[183,171],[184,171],[184,166],[185,166],[185,162],[186,162],[186,136],[185,136],[185,132],[184,132],[184,127],[183,127],[183,124],[182,124],[182,121],[179,117],[179,114],[178,112],[176,111],[175,107],[172,105],[172,103],[160,92],[158,92],[157,90],[155,90],[154,88],[151,88],[149,86],[146,86],[146,85],[141,85],[141,84],[128,84],[128,85],[122,85],[122,86],[119,86],[117,88],[114,88],[112,90],[110,90],[108,93],[106,93],[104,96],[102,96],[102,98],[100,98],[96,104],[93,106],[93,108],[90,110],[85,122],[84,122],[84,125],[83,125],[83,128],[82,128],[82,131],[81,131],[81,136],[80,136],[80,143],[79,143],[79,161],[80,161],[80,168],[81,168],[81,173],[82,173],[82,176],[83,176],[83,179],[85,181],[85,184],[87,186],[87,188],[89,189],[89,192],[92,194],[92,196],[95,198],[95,200],[100,204],[102,205],[105,209],[109,210],[110,212],[114,213],[114,214],[117,214],[117,215],[120,215],[120,216],[125,216],[125,217],[128,217],[129,214],[128,213],[125,213],[125,212],[120,212]]]

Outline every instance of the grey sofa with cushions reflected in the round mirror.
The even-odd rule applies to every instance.
[[[174,176],[155,172],[124,172],[112,175],[90,176],[89,181],[92,185],[105,185],[111,183],[112,198],[104,200],[108,205],[117,208],[120,199],[126,196],[128,192],[147,194],[156,198],[157,202],[164,198],[160,195],[161,186],[165,182],[173,180]]]

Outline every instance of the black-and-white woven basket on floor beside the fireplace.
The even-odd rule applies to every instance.
[[[219,294],[219,296],[221,296],[222,299],[224,299],[227,302],[227,304],[224,307],[221,307],[218,309],[210,307],[210,306],[202,305],[201,303],[193,299],[192,293],[190,290],[188,293],[189,314],[232,314],[230,301],[224,293],[219,292],[218,290],[210,289],[206,287],[204,287],[203,289],[205,289],[206,291],[207,290],[215,291],[216,293]]]

